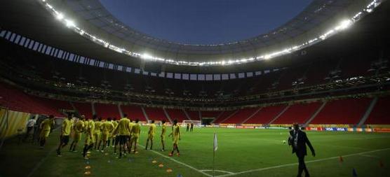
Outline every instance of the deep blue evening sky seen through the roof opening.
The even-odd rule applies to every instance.
[[[191,44],[226,43],[266,33],[311,0],[100,0],[128,26]]]

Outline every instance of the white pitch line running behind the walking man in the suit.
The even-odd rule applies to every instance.
[[[342,155],[342,157],[350,157],[350,156],[354,156],[354,155],[364,155],[366,153],[377,153],[377,152],[381,152],[381,151],[385,151],[385,150],[390,150],[390,148],[384,148],[384,149],[379,149],[379,150],[370,150],[370,151],[365,151],[365,152],[361,152],[361,153],[354,153],[354,154],[349,154],[349,155]],[[339,156],[337,157],[328,157],[328,158],[323,158],[323,159],[319,159],[319,160],[309,160],[307,161],[306,163],[313,163],[313,162],[321,162],[321,161],[325,161],[325,160],[333,160],[333,159],[338,159]],[[247,171],[240,171],[240,172],[236,172],[235,174],[225,174],[225,175],[220,175],[220,176],[217,176],[217,177],[224,177],[224,176],[235,176],[235,175],[238,175],[238,174],[247,174],[247,173],[250,173],[250,172],[254,172],[254,171],[264,171],[264,170],[268,170],[268,169],[278,169],[278,168],[281,168],[281,167],[290,167],[290,166],[294,166],[294,165],[297,165],[298,163],[291,163],[291,164],[282,164],[282,165],[278,165],[278,166],[274,166],[274,167],[265,167],[265,168],[262,168],[262,169],[250,169],[250,170],[247,170]]]

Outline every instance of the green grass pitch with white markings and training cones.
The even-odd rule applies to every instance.
[[[144,146],[147,127],[142,127],[140,144]],[[160,139],[154,150],[144,150],[116,159],[112,148],[108,155],[91,153],[89,176],[211,176],[213,133],[217,133],[215,176],[296,176],[297,157],[283,144],[287,130],[197,128],[193,133],[182,130],[180,157],[160,152]],[[316,150],[308,152],[307,167],[311,176],[390,176],[390,134],[364,132],[307,132]],[[7,140],[0,150],[0,176],[85,176],[87,161],[81,153],[67,152],[55,156],[59,132],[49,137],[45,149],[31,143]],[[167,137],[167,149],[172,141]],[[78,146],[81,150],[81,143]],[[343,162],[339,161],[343,157]],[[156,160],[156,163],[152,161]],[[382,161],[383,166],[379,165]],[[159,167],[163,164],[164,167]],[[166,169],[172,172],[166,172]]]

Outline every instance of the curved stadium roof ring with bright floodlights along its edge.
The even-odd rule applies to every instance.
[[[37,6],[36,2],[43,6]],[[146,60],[186,66],[230,65],[285,55],[322,41],[337,31],[333,29],[359,20],[364,15],[362,10],[370,13],[368,10],[380,2],[315,0],[302,13],[267,34],[217,45],[173,43],[148,36],[117,20],[98,0],[4,1],[1,27],[29,34],[64,50],[121,64],[130,61],[139,65]],[[59,21],[74,30],[64,28],[65,25],[58,27]],[[79,35],[74,35],[74,31]],[[113,54],[109,49],[119,53]]]

